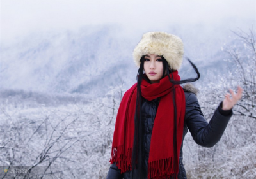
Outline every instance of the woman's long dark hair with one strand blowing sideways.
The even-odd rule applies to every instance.
[[[171,74],[168,75],[169,81],[173,83],[174,85],[179,85],[182,83],[188,83],[188,82],[195,82],[200,78],[200,73],[198,69],[196,68],[195,64],[193,64],[188,58],[189,63],[191,66],[193,66],[193,69],[195,70],[197,77],[196,78],[188,78],[186,80],[180,80],[180,81],[175,81],[173,80],[173,75],[172,75],[172,67],[168,65],[168,62],[164,57],[162,56],[162,61],[163,61],[163,76],[166,74]],[[148,83],[150,83],[150,80],[148,77],[143,74],[144,70],[144,61],[145,61],[145,56],[143,55],[140,59],[140,68],[138,69],[137,73],[137,99],[136,99],[136,110],[135,110],[135,115],[134,115],[134,142],[133,142],[133,150],[132,150],[132,178],[136,177],[134,176],[134,170],[138,169],[138,176],[139,178],[147,178],[147,173],[145,173],[146,168],[143,163],[144,161],[144,154],[143,154],[143,121],[141,120],[141,104],[142,104],[142,96],[141,96],[141,82],[142,80],[146,80]],[[170,77],[172,76],[172,77]],[[173,130],[173,148],[174,148],[174,162],[177,163],[177,110],[176,110],[176,104],[175,104],[175,88],[173,88],[173,106],[174,106],[174,122],[173,125],[174,130]],[[177,166],[174,166],[177,167]]]

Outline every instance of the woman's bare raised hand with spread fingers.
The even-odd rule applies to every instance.
[[[229,93],[225,94],[225,99],[222,103],[223,110],[231,110],[237,101],[239,101],[239,99],[242,97],[243,89],[239,86],[237,87],[237,93],[235,93],[232,89],[229,89],[229,91],[232,95],[232,98],[230,98]]]

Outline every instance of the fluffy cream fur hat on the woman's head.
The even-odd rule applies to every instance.
[[[182,40],[178,36],[166,32],[147,32],[143,34],[140,43],[133,50],[136,66],[140,66],[140,59],[146,54],[163,55],[169,66],[173,70],[177,70],[183,60]]]

